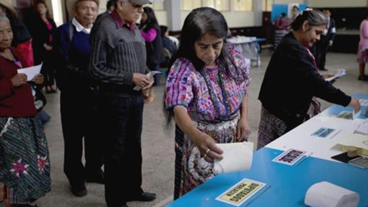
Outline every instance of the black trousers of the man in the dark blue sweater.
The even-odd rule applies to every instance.
[[[64,90],[60,94],[64,172],[71,185],[81,185],[86,177],[102,174],[103,137],[97,103],[92,90]],[[82,164],[83,138],[85,165]]]

